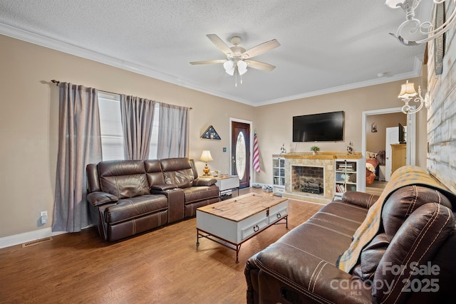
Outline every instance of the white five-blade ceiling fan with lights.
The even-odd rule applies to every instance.
[[[271,65],[269,63],[254,61],[251,59],[255,56],[259,56],[262,53],[266,53],[267,51],[271,51],[272,49],[280,46],[279,41],[277,41],[276,39],[266,41],[246,51],[245,48],[239,46],[239,43],[241,42],[241,38],[239,36],[233,36],[230,39],[231,43],[234,45],[231,48],[227,46],[227,43],[224,43],[224,41],[221,38],[219,38],[219,36],[213,33],[209,33],[206,36],[207,38],[209,38],[210,41],[212,41],[212,43],[214,43],[215,46],[217,46],[217,48],[219,48],[220,51],[222,51],[227,56],[227,59],[192,61],[190,64],[197,65],[223,63],[225,72],[229,75],[234,75],[236,71],[237,73],[239,73],[239,75],[244,75],[244,73],[247,73],[247,67],[255,68],[257,70],[274,70],[274,68],[276,68],[274,65]]]

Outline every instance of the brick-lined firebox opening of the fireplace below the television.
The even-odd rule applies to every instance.
[[[291,166],[291,187],[293,192],[324,194],[324,168],[312,166]]]

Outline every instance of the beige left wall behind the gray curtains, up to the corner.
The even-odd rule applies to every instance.
[[[51,227],[38,224],[40,211],[52,219],[58,136],[56,79],[113,93],[150,98],[193,108],[190,158],[211,150],[214,162],[229,171],[229,118],[253,120],[255,108],[155,80],[119,68],[0,36],[0,238]],[[222,140],[202,140],[213,125]],[[197,162],[202,172],[204,164]]]

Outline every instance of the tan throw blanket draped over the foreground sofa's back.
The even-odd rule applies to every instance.
[[[339,269],[349,273],[353,266],[356,266],[361,251],[373,239],[380,228],[383,203],[395,190],[412,184],[438,189],[445,195],[449,195],[447,197],[450,200],[452,200],[454,196],[454,194],[447,189],[442,188],[442,184],[433,179],[424,169],[415,166],[400,167],[391,174],[390,181],[386,184],[382,194],[380,194],[378,200],[375,201],[375,204],[371,206],[363,224],[358,227],[353,235],[353,241],[350,246],[341,254],[341,256],[339,256],[336,263]]]

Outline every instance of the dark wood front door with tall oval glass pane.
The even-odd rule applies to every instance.
[[[239,188],[250,187],[250,125],[232,122],[231,172],[239,177]]]

